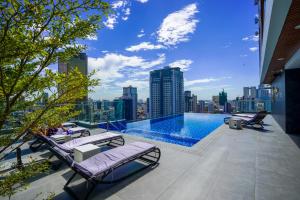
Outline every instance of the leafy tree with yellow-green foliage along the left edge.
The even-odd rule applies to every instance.
[[[78,41],[93,36],[109,13],[110,5],[100,0],[0,1],[0,130],[18,122],[9,134],[0,135],[0,161],[20,146],[17,141],[26,142],[29,132],[41,134],[78,114],[75,102],[98,80],[77,69],[59,74],[48,67],[82,52],[86,47]],[[50,94],[47,103],[37,106],[45,91]],[[23,111],[22,117],[16,117],[17,111]],[[3,175],[0,195],[10,197],[45,165],[32,160],[15,170]]]

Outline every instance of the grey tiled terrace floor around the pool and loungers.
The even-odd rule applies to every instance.
[[[91,199],[300,199],[299,137],[285,134],[272,116],[265,123],[266,131],[223,125],[191,148],[125,135],[127,143],[159,146],[160,165],[115,185],[99,185]],[[52,172],[12,199],[33,199],[41,192],[71,199],[62,189],[70,175],[66,167]],[[85,189],[84,184],[74,187]]]

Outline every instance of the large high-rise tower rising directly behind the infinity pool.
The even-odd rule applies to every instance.
[[[150,72],[151,118],[184,112],[183,72],[180,68],[165,67]]]

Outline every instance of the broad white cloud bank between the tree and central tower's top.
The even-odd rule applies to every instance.
[[[164,62],[164,54],[160,54],[157,59],[152,61],[138,56],[125,56],[116,53],[107,53],[98,58],[88,58],[89,71],[96,70],[95,77],[101,80],[101,84],[108,84],[116,79],[123,78],[122,70],[126,67],[149,69]]]

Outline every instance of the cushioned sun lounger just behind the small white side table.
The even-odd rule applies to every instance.
[[[42,144],[47,144],[48,146],[56,146],[67,153],[72,153],[73,149],[78,146],[82,146],[85,144],[101,144],[108,142],[108,145],[111,146],[121,146],[124,145],[125,141],[122,135],[112,133],[112,132],[105,132],[101,134],[96,134],[87,137],[75,138],[63,144],[58,144],[56,141],[51,139],[50,137],[37,135],[37,139],[30,145],[30,149],[32,151],[36,151]],[[35,146],[36,143],[39,143],[38,146]]]

